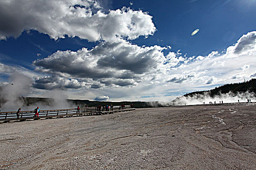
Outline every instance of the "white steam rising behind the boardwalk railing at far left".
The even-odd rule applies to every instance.
[[[9,83],[0,86],[0,110],[15,111],[19,107],[22,110],[34,110],[37,106],[41,110],[75,108],[73,103],[67,102],[67,96],[63,91],[51,91],[47,97],[52,98],[48,101],[29,102],[25,97],[31,93],[32,80],[30,77],[13,73],[9,78]]]

